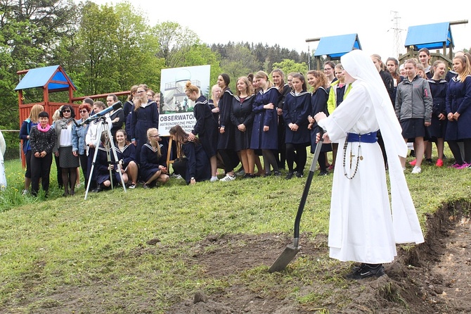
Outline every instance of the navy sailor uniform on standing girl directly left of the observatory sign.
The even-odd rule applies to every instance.
[[[136,139],[136,158],[141,158],[141,148],[147,143],[147,130],[159,127],[159,112],[155,101],[144,103],[131,113],[131,139]]]

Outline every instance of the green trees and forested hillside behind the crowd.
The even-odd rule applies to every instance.
[[[228,73],[257,70],[306,72],[308,56],[278,45],[207,44],[188,27],[167,21],[151,26],[145,13],[123,2],[101,5],[72,0],[0,0],[0,130],[18,130],[19,70],[62,65],[75,96],[128,90],[146,83],[158,91],[160,70],[211,65],[211,82]],[[235,87],[235,86],[234,86]],[[233,88],[234,88],[233,87]],[[42,100],[41,89],[24,92],[25,103]],[[51,101],[67,101],[65,92]],[[17,154],[18,134],[4,134]]]

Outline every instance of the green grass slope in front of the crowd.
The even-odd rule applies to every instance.
[[[409,172],[422,227],[425,214],[443,203],[470,199],[469,170],[424,165],[420,175]],[[34,199],[21,195],[19,161],[8,161],[6,173],[8,188],[0,193],[0,311],[5,313],[46,313],[70,306],[71,296],[77,299],[70,309],[75,313],[163,313],[195,291],[211,294],[238,284],[260,296],[293,299],[318,313],[328,313],[325,300],[338,308],[349,301],[342,292],[350,284],[344,274],[328,272],[341,263],[327,254],[314,260],[307,252],[282,274],[269,274],[266,265],[211,277],[202,265],[188,262],[197,242],[209,234],[291,234],[305,179],[195,186],[171,180],[157,189],[116,189],[84,200],[84,187],[74,197],[60,196],[53,168],[49,198]],[[312,182],[301,222],[311,239],[328,233],[332,177]],[[156,238],[157,246],[146,244]],[[217,249],[207,246],[205,253]],[[314,282],[316,289],[299,288]],[[323,284],[335,289],[323,289]]]

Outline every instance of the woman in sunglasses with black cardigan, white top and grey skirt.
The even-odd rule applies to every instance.
[[[60,109],[60,120],[54,123],[57,142],[54,146],[54,154],[59,157],[63,196],[75,194],[75,182],[77,182],[77,168],[79,158],[72,152],[72,126],[74,125],[75,111],[70,105],[64,105]],[[69,191],[70,187],[70,191]]]

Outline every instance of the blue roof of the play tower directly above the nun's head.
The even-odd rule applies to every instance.
[[[361,49],[358,34],[322,37],[314,56],[325,55],[330,56],[330,58],[340,58],[354,49]]]

